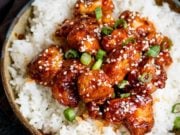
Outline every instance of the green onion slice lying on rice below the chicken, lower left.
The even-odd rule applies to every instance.
[[[68,121],[73,121],[76,117],[76,113],[74,111],[73,108],[67,108],[64,110],[64,117],[68,120]]]

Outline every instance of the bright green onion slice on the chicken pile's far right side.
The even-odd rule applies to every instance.
[[[154,45],[149,48],[146,55],[149,57],[157,57],[159,55],[159,53],[160,53],[160,46]]]

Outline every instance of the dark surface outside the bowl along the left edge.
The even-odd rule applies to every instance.
[[[22,7],[30,0],[0,0],[0,49],[2,50],[6,32]],[[0,50],[0,52],[1,52]],[[0,81],[0,135],[29,135],[19,122],[6,99]]]

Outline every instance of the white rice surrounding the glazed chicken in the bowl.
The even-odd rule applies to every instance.
[[[123,10],[139,11],[155,23],[158,31],[169,36],[174,46],[171,54],[173,64],[168,70],[166,88],[158,90],[154,97],[155,125],[148,135],[169,135],[174,115],[172,105],[180,95],[180,15],[170,11],[167,4],[155,5],[154,0],[113,0],[117,17]],[[52,98],[47,87],[40,86],[26,76],[26,65],[34,56],[51,43],[52,33],[58,23],[70,18],[76,0],[35,0],[34,18],[25,40],[13,41],[9,48],[13,64],[9,67],[12,75],[11,85],[17,94],[16,102],[29,123],[44,133],[60,135],[119,135],[125,129],[113,131],[113,127],[102,127],[101,123],[87,119],[68,123],[64,116],[64,106]],[[128,134],[128,133],[127,133]],[[171,133],[172,134],[172,133]]]

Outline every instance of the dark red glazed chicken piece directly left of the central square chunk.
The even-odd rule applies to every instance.
[[[77,60],[65,60],[62,69],[54,79],[54,85],[52,86],[53,97],[63,105],[76,107],[79,102],[77,78],[87,70]]]

